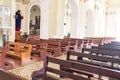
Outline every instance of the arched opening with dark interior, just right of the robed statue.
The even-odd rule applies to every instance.
[[[29,33],[30,35],[40,35],[40,7],[33,5],[30,9]]]

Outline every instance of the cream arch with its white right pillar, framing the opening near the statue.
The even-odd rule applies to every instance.
[[[48,39],[48,13],[49,13],[49,0],[31,0],[30,4],[29,4],[29,11],[28,14],[30,12],[30,9],[32,8],[32,6],[37,5],[40,7],[40,13],[41,13],[41,18],[40,18],[40,38],[41,39]],[[30,14],[29,14],[30,17]],[[30,20],[30,18],[28,17],[28,21]],[[29,29],[29,28],[28,28]]]

